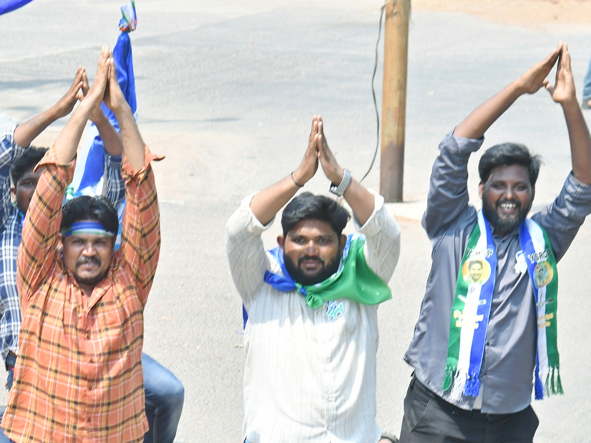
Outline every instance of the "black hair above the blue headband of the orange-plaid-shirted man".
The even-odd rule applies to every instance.
[[[119,230],[117,211],[106,197],[80,196],[64,204],[60,230],[69,229],[73,223],[81,220],[99,222],[109,232],[117,233]]]

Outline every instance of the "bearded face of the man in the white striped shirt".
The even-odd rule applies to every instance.
[[[301,285],[322,282],[336,272],[345,240],[329,223],[314,219],[302,220],[285,237],[277,237],[285,268]]]

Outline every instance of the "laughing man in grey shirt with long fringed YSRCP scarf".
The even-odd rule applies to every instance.
[[[551,87],[545,78],[557,61]],[[470,154],[519,96],[544,86],[564,111],[571,174],[556,200],[527,218],[540,159],[523,145],[493,146],[480,159],[476,211],[466,186]],[[591,138],[566,44],[473,110],[439,148],[423,217],[433,265],[405,354],[414,375],[400,441],[531,442],[532,387],[538,399],[562,391],[556,261],[591,213]],[[469,278],[476,259],[478,281]]]

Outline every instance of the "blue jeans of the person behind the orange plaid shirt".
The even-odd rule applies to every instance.
[[[9,356],[10,357],[10,356]],[[7,363],[14,366],[14,361]],[[177,435],[178,421],[183,412],[184,387],[172,372],[142,353],[144,369],[144,389],[146,396],[146,415],[150,429],[144,435],[144,443],[173,443]],[[12,371],[8,372],[8,389],[12,387]],[[0,408],[0,420],[4,415]],[[0,430],[0,443],[10,443]]]

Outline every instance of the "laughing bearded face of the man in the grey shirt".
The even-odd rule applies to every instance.
[[[501,236],[511,232],[527,217],[534,199],[530,171],[525,166],[493,168],[486,183],[479,185],[482,211]]]

